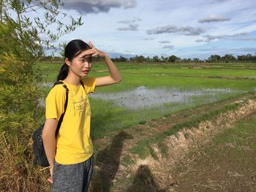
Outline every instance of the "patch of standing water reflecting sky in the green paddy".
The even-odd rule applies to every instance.
[[[146,88],[140,86],[132,91],[119,93],[94,93],[91,98],[112,101],[118,107],[126,107],[129,110],[156,107],[167,103],[192,104],[194,101],[206,102],[218,101],[219,96],[240,93],[228,88],[207,88],[197,91],[179,91],[176,88]],[[199,101],[200,102],[200,101]]]

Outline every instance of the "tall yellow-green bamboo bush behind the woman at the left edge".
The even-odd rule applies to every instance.
[[[38,102],[42,79],[33,66],[43,57],[43,45],[53,48],[50,42],[81,25],[70,17],[72,24],[59,23],[56,34],[48,30],[59,21],[59,6],[60,1],[0,1],[0,191],[48,191],[48,170],[33,166],[31,134],[44,114]]]

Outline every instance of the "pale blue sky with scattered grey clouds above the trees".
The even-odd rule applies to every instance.
[[[255,0],[73,0],[61,11],[84,24],[59,42],[91,41],[112,58],[256,54]]]

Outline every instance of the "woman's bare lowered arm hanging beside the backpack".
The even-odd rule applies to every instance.
[[[56,119],[46,119],[42,131],[42,142],[45,147],[45,154],[50,164],[50,176],[53,174],[53,161],[56,155],[56,137],[55,132],[58,125]]]

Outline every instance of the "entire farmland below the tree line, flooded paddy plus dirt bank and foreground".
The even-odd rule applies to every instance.
[[[90,191],[255,191],[255,63],[116,66],[122,81],[89,94]],[[60,67],[34,67],[42,106]],[[106,75],[101,62],[89,72]]]

